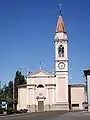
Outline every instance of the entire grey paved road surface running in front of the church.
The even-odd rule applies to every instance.
[[[0,120],[90,120],[87,112],[42,112],[0,116]]]

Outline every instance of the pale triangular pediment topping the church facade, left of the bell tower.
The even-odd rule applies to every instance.
[[[54,76],[53,73],[47,72],[46,70],[42,69],[31,74],[31,77],[53,77],[53,76]]]

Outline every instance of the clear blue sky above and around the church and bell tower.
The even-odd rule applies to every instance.
[[[54,68],[58,4],[68,33],[69,83],[82,83],[90,67],[89,0],[0,0],[0,80],[13,80],[20,67]],[[21,70],[23,74],[26,70]]]

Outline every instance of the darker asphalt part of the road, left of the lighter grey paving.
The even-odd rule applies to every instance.
[[[8,116],[0,116],[0,120],[50,120],[56,119],[60,116],[60,114],[64,114],[63,112],[41,112],[41,113],[26,113],[26,114],[18,114],[18,115],[8,115]]]

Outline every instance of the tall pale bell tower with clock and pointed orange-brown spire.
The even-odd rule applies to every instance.
[[[68,110],[68,50],[67,32],[62,13],[58,18],[55,33],[55,73],[56,73],[56,104],[60,109]]]

